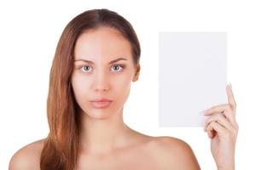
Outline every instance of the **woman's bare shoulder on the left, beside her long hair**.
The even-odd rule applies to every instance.
[[[40,169],[40,156],[43,147],[44,139],[40,139],[17,150],[9,161],[9,170]]]

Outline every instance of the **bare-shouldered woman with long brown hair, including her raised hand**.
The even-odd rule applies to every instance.
[[[108,9],[85,11],[61,34],[49,77],[49,135],[18,150],[9,169],[200,169],[189,144],[123,122],[141,49],[131,24]],[[205,130],[218,169],[235,169],[238,126],[229,104],[212,107]]]

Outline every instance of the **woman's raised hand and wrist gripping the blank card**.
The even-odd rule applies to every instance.
[[[235,148],[238,133],[236,122],[236,101],[231,85],[226,87],[228,104],[217,105],[205,111],[209,116],[205,131],[211,139],[212,156],[218,170],[235,170]]]

